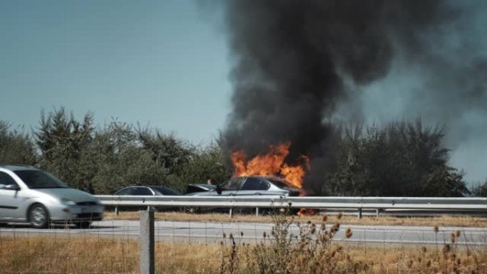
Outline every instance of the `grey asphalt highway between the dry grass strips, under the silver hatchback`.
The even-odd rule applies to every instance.
[[[219,243],[224,234],[228,238],[233,234],[237,241],[263,241],[264,232],[271,235],[271,223],[211,223],[156,221],[156,241]],[[330,228],[330,224],[327,229]],[[345,237],[345,230],[350,228],[353,235]],[[320,229],[320,226],[317,226]],[[298,226],[290,226],[290,233],[299,234]],[[434,245],[450,243],[451,233],[461,232],[456,239],[459,245],[487,246],[487,228],[440,227],[434,232],[433,227],[421,226],[357,226],[342,224],[334,241],[370,244],[417,244]],[[54,226],[49,229],[33,229],[26,224],[9,224],[0,227],[0,238],[6,236],[97,236],[113,239],[137,239],[140,233],[139,221],[98,221],[90,228],[76,229],[73,226]],[[266,240],[268,241],[268,240]]]

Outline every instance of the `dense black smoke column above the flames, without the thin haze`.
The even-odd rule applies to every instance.
[[[310,156],[308,186],[323,180],[336,106],[384,78],[398,53],[430,61],[430,34],[460,16],[439,0],[224,4],[234,57],[226,147],[253,156],[291,142],[289,161]]]

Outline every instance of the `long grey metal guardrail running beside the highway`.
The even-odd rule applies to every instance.
[[[98,195],[106,206],[197,206],[229,208],[412,209],[487,211],[487,198],[289,197],[289,196],[114,196]]]

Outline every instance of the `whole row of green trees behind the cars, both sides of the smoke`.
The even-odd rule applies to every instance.
[[[439,127],[421,121],[379,127],[334,127],[335,149],[323,183],[313,193],[336,196],[487,196],[487,181],[472,189],[448,163]],[[0,120],[0,164],[51,172],[93,194],[122,186],[187,184],[228,179],[233,171],[221,140],[194,145],[172,133],[112,120],[95,127],[93,115],[76,120],[65,108],[41,113],[27,133]],[[306,185],[305,185],[306,186]]]

